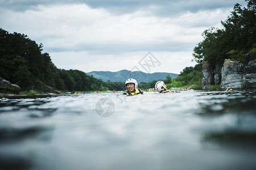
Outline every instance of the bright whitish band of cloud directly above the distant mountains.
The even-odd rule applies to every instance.
[[[90,71],[119,71],[131,70],[135,66],[140,70],[147,72],[139,65],[139,61],[147,54],[147,51],[122,53],[122,57],[115,55],[91,55],[87,52],[58,52],[52,53],[53,63],[58,63],[62,69],[78,69],[86,73]],[[160,66],[151,68],[151,73],[167,72],[179,74],[187,66],[195,66],[191,62],[192,54],[190,52],[151,52],[159,62]],[[100,67],[99,67],[100,66]]]

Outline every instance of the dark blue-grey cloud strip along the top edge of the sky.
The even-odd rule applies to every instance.
[[[230,8],[233,7],[235,3],[240,3],[241,5],[246,5],[243,0],[163,0],[160,3],[153,0],[140,0],[140,1],[130,1],[130,0],[41,0],[41,1],[31,1],[31,0],[1,0],[0,6],[3,8],[9,8],[15,11],[26,11],[31,10],[36,6],[48,6],[48,5],[81,5],[86,4],[91,8],[105,8],[111,11],[113,14],[130,14],[135,11],[147,10],[154,15],[159,16],[174,16],[175,14],[183,13],[184,11],[197,12],[202,10],[214,10],[217,8]]]

